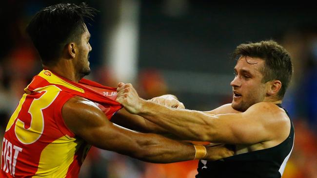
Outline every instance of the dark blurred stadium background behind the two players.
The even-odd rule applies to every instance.
[[[60,2],[81,1],[1,1],[0,134],[23,89],[41,70],[24,29],[37,11]],[[294,64],[283,106],[295,123],[296,141],[283,178],[317,178],[316,5],[206,0],[86,3],[100,11],[88,26],[93,51],[87,78],[113,87],[119,81],[130,82],[145,99],[172,93],[189,109],[211,110],[231,102],[235,61],[230,53],[238,44],[277,40]],[[194,178],[196,168],[196,160],[151,164],[92,148],[80,178]]]

